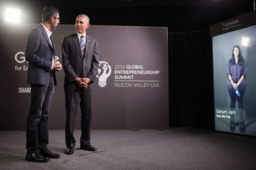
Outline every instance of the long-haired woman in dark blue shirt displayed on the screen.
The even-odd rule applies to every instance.
[[[230,107],[236,107],[236,101],[238,101],[239,114],[240,114],[240,132],[245,132],[244,120],[244,90],[245,90],[245,61],[242,57],[242,51],[238,45],[233,46],[232,58],[229,59],[227,66],[227,89],[229,90],[229,96],[231,99]],[[230,130],[233,132],[236,129],[236,123],[234,121],[234,115],[231,115]]]

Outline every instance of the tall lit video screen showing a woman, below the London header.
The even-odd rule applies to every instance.
[[[215,130],[256,135],[256,25],[212,37]]]

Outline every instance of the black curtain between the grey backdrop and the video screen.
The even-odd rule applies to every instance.
[[[169,33],[169,126],[214,129],[209,31]]]

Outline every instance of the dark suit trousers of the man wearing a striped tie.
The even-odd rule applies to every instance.
[[[92,92],[86,92],[83,89],[65,91],[66,97],[66,146],[74,148],[76,139],[74,139],[74,124],[76,120],[77,107],[80,101],[81,108],[81,138],[80,146],[90,144],[91,135],[91,95]]]

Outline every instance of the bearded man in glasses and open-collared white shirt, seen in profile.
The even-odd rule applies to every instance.
[[[48,148],[48,115],[56,85],[55,71],[62,65],[54,60],[55,46],[51,31],[59,24],[59,11],[55,7],[44,7],[42,23],[29,31],[26,60],[29,62],[27,83],[31,85],[31,105],[27,116],[26,160],[46,163],[59,154]]]

